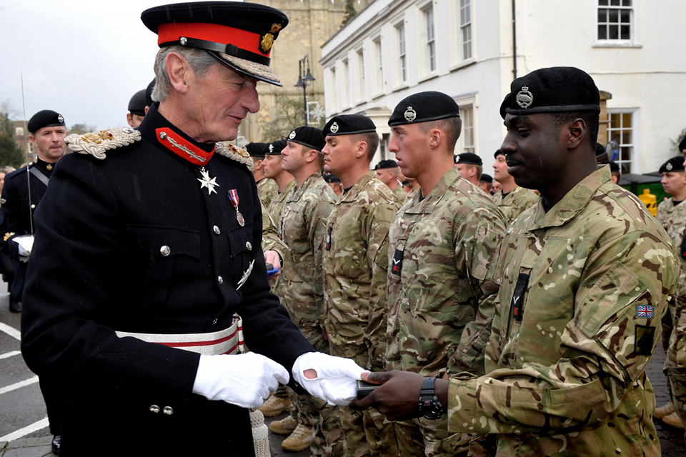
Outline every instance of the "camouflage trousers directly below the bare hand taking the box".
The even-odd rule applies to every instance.
[[[393,423],[375,409],[353,411],[342,407],[341,418],[346,457],[398,456]]]

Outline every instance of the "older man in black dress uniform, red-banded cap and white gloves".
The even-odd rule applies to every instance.
[[[156,102],[139,129],[67,140],[36,212],[22,353],[68,382],[63,456],[118,456],[112,436],[134,456],[185,456],[179,437],[252,456],[247,408],[279,382],[346,404],[362,372],[314,352],[269,293],[252,161],[220,142],[259,109],[257,81],[279,84],[288,20],[214,1],[141,19],[161,47]]]

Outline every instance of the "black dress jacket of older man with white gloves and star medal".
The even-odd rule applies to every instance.
[[[32,371],[70,381],[63,457],[254,453],[247,409],[192,393],[197,353],[118,338],[115,330],[207,333],[229,327],[235,311],[247,346],[289,372],[314,350],[269,293],[249,169],[214,154],[204,169],[219,187],[208,195],[200,167],[159,141],[161,127],[205,151],[214,146],[192,141],[152,107],[141,141],[104,160],[61,159],[36,211],[31,255],[41,262],[29,265],[21,345]],[[113,447],[114,438],[126,448]]]

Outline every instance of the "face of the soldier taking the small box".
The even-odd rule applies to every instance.
[[[540,190],[563,181],[573,159],[552,114],[507,114],[504,124],[507,134],[500,150],[507,155],[507,173],[515,178],[517,186]]]

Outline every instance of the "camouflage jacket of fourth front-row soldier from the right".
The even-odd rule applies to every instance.
[[[288,194],[281,211],[279,236],[290,249],[282,273],[286,306],[301,327],[324,328],[322,248],[335,203],[336,194],[316,173]]]

